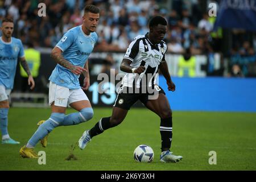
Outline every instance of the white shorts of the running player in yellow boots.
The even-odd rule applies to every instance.
[[[77,101],[88,101],[84,91],[80,89],[71,90],[64,86],[59,86],[50,81],[49,83],[49,105],[54,102],[55,106],[67,107]]]

